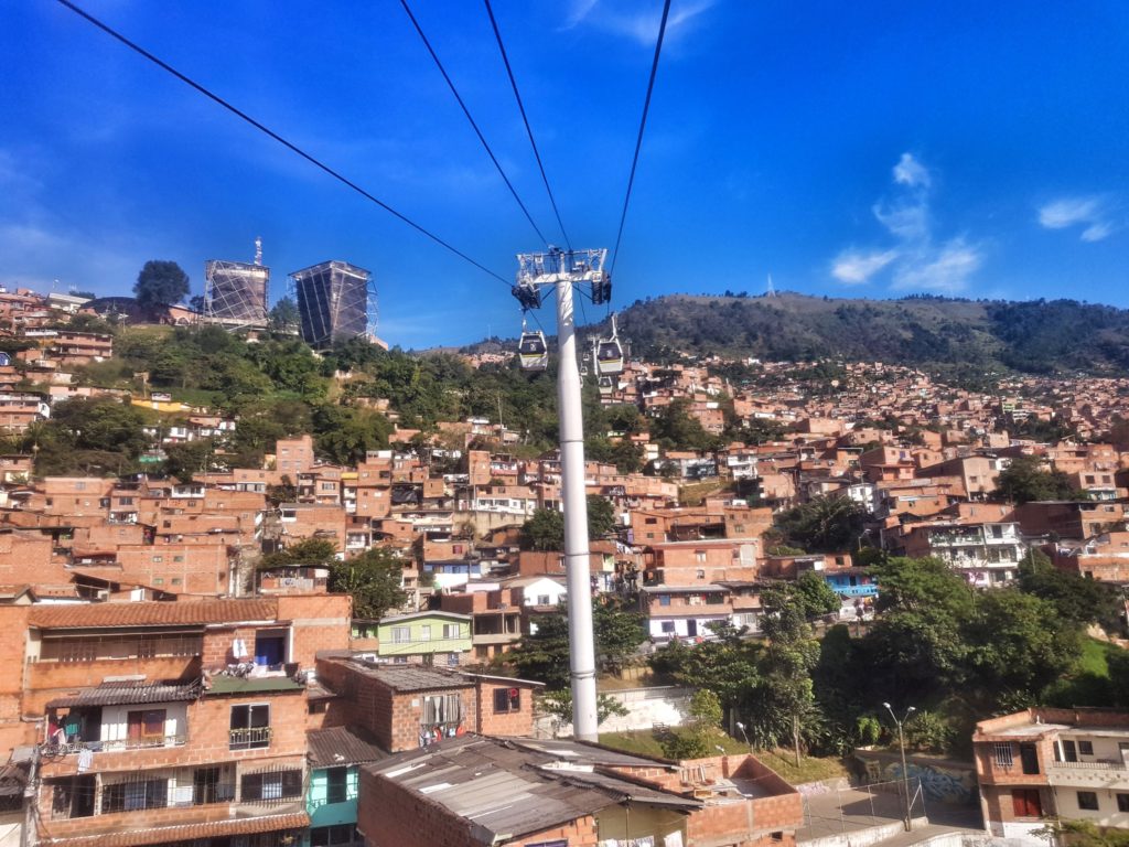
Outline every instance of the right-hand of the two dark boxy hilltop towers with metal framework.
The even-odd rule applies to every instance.
[[[351,338],[376,338],[376,283],[348,262],[322,262],[290,274],[301,337],[315,349]]]

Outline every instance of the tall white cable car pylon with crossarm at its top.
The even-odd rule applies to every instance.
[[[585,490],[584,413],[580,369],[576,359],[572,289],[592,283],[593,302],[606,302],[611,281],[604,272],[606,250],[518,255],[514,296],[523,307],[540,305],[541,288],[557,287],[557,343],[560,353],[557,400],[561,433],[561,499],[564,504],[564,570],[568,585],[569,671],[572,680],[572,733],[597,741],[596,648],[592,628],[592,578],[588,556],[588,503]]]

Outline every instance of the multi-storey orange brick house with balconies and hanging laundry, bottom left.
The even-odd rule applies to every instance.
[[[0,742],[34,744],[40,841],[292,844],[308,687],[340,595],[0,608]]]

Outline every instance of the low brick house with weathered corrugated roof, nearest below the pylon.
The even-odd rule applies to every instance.
[[[796,789],[751,756],[665,762],[475,735],[364,768],[360,801],[370,847],[787,846],[803,822]]]

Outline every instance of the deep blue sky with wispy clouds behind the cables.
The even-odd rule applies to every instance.
[[[511,278],[543,247],[396,0],[86,0],[93,15]],[[479,0],[413,10],[542,230]],[[659,0],[493,0],[575,246],[607,246]],[[0,282],[126,294],[148,259],[371,270],[403,347],[516,303],[62,6],[0,27]],[[778,289],[1129,306],[1129,3],[675,0],[615,300]],[[590,312],[590,307],[589,307]],[[550,317],[542,317],[546,328]]]

